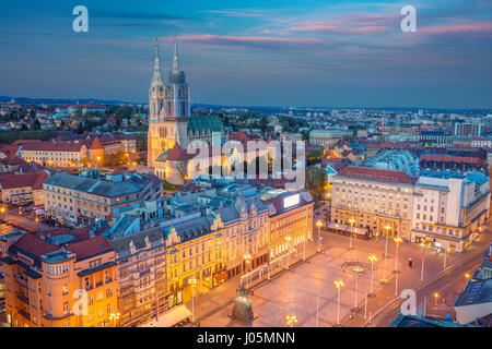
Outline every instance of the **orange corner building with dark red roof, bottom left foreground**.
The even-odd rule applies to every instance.
[[[99,232],[60,229],[0,241],[11,326],[118,325],[112,321],[118,312],[115,251]]]

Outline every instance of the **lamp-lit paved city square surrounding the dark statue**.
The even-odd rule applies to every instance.
[[[489,230],[489,229],[488,229]],[[316,238],[317,231],[315,231]],[[306,248],[308,263],[302,261],[302,249],[297,254],[295,267],[283,270],[269,280],[265,279],[253,286],[253,301],[255,312],[254,327],[286,326],[285,316],[295,315],[298,320],[296,326],[319,327],[332,326],[337,323],[338,290],[335,280],[341,279],[344,287],[340,292],[340,322],[347,326],[360,326],[371,313],[395,298],[396,274],[395,257],[396,243],[388,242],[388,257],[385,269],[385,240],[379,241],[353,239],[353,249],[349,249],[350,238],[323,232],[323,253],[316,253],[316,242],[309,242]],[[479,245],[490,243],[490,233],[482,234],[468,251],[454,253],[447,257],[447,266],[453,265]],[[436,275],[444,269],[444,255],[434,250],[426,250],[424,255],[424,279]],[[365,294],[371,288],[371,262],[368,255],[376,255],[374,263],[373,290],[376,297],[368,298],[365,311]],[[413,267],[408,266],[408,258],[412,257]],[[295,262],[296,258],[293,258]],[[361,264],[363,270],[355,277],[350,264]],[[345,267],[344,267],[345,266]],[[418,286],[421,281],[422,252],[421,249],[410,242],[400,244],[398,252],[398,294],[405,288]],[[383,276],[389,280],[382,286]],[[239,279],[227,280],[209,293],[195,298],[195,316],[204,327],[231,327],[244,326],[233,321],[229,314],[232,312],[232,300],[236,294]],[[358,284],[358,285],[356,285]],[[351,309],[356,305],[360,311],[350,320]],[[191,310],[191,304],[187,303]],[[318,316],[317,316],[318,315]],[[350,320],[350,321],[349,321]]]

